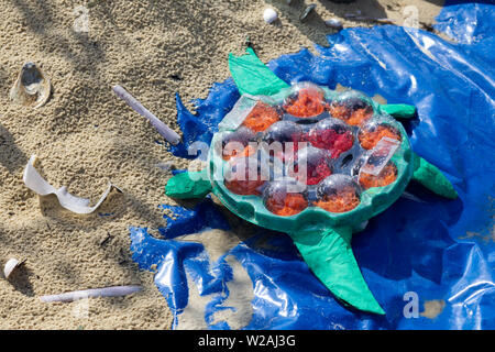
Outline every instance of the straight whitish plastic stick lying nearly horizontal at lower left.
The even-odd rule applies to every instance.
[[[48,295],[40,297],[40,300],[43,302],[68,302],[84,298],[96,298],[96,297],[117,297],[117,296],[127,296],[142,290],[141,286],[112,286],[105,288],[92,288],[92,289],[82,289],[75,290],[65,294],[58,295]]]

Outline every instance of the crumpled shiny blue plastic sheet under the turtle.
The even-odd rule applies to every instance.
[[[194,318],[208,329],[495,329],[494,10],[486,3],[446,6],[436,28],[451,41],[393,25],[348,29],[328,37],[330,47],[317,46],[318,55],[302,50],[268,64],[287,82],[339,82],[389,103],[415,105],[418,118],[405,122],[414,151],[459,193],[446,200],[410,184],[414,197],[400,198],[353,237],[358,263],[385,316],[337,302],[286,234],[258,229],[218,258],[204,244],[183,241],[202,230],[229,230],[206,199],[195,209],[173,207],[176,220],[160,229],[165,239],[131,229],[133,258],[156,270],[174,328],[186,319],[195,287],[206,302]],[[209,142],[238,98],[231,79],[197,100],[196,114],[177,97],[185,143],[172,151],[187,156],[191,142]],[[249,275],[248,301],[229,300],[239,294],[230,286],[235,273],[229,257]],[[222,320],[226,311],[230,318]],[[248,319],[235,320],[237,314]]]

